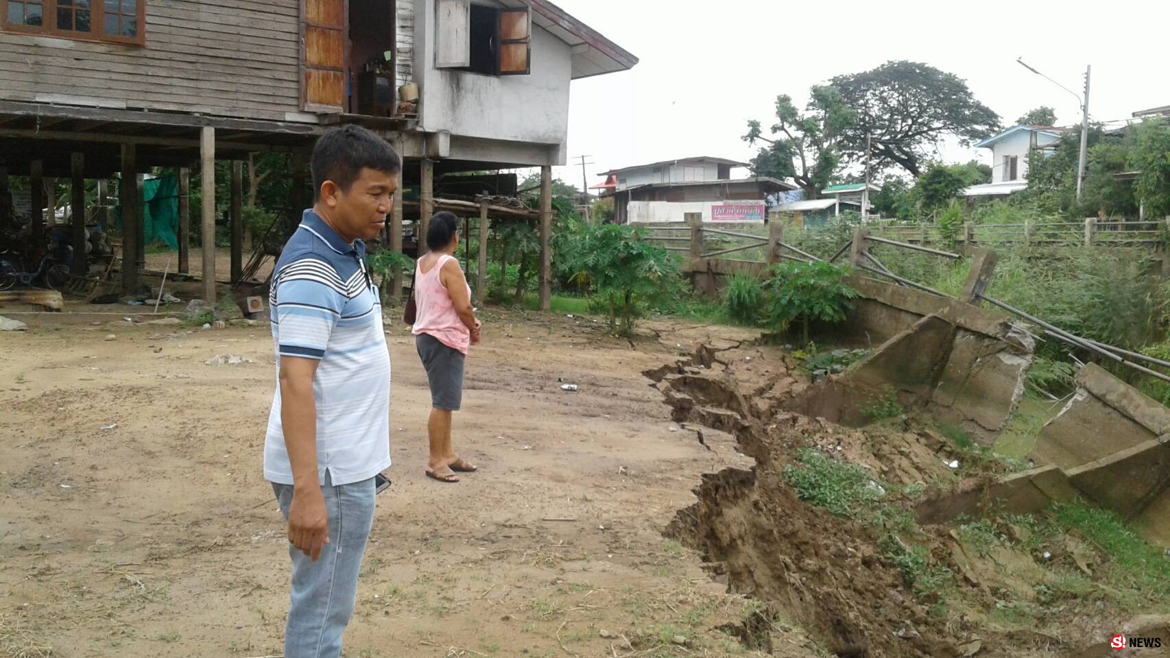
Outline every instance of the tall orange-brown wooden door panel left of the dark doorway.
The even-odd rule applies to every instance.
[[[302,0],[301,102],[309,112],[342,112],[346,106],[345,0]]]

